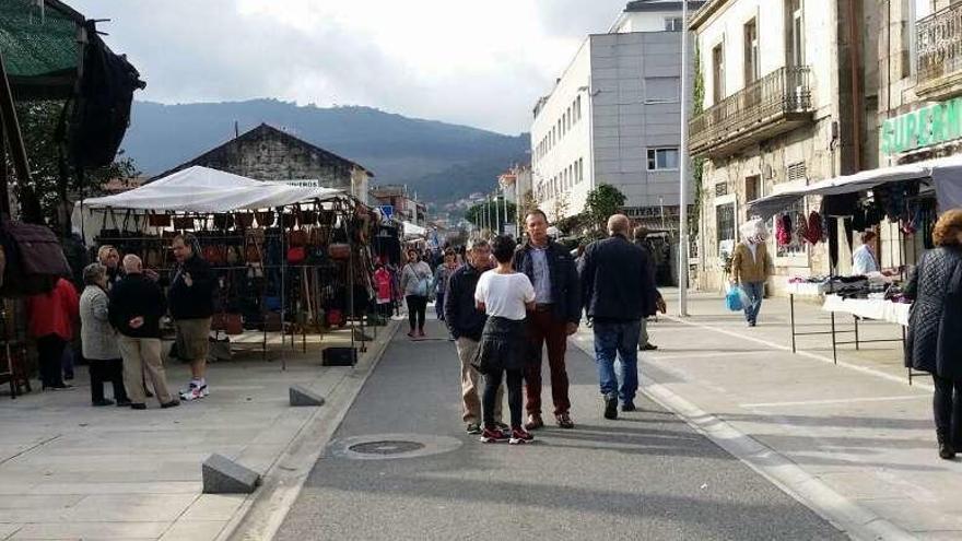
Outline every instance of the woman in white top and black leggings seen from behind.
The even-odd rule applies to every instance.
[[[484,430],[481,442],[495,443],[508,437],[494,422],[494,407],[502,376],[507,373],[507,403],[511,408],[512,432],[509,444],[533,439],[521,424],[521,373],[525,368],[525,316],[535,308],[535,287],[528,277],[512,268],[516,244],[508,236],[498,236],[491,243],[497,267],[481,274],[474,290],[478,309],[488,314],[484,333],[474,368],[484,375],[481,411]]]

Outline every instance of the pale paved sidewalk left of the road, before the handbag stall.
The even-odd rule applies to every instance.
[[[395,325],[378,330],[379,341]],[[324,342],[348,341],[348,331],[340,331]],[[378,352],[368,343],[367,357],[352,369],[321,367],[319,346],[308,345],[306,354],[297,346],[283,351],[286,371],[279,346],[269,351],[269,362],[248,352],[212,364],[211,395],[171,410],[155,401],[146,411],[92,408],[85,367],[79,367],[74,389],[16,400],[0,396],[0,540],[226,536],[262,490],[201,494],[201,462],[219,452],[261,474],[272,472],[319,415],[347,405],[337,403],[340,388],[360,385],[367,357]],[[184,384],[187,366],[168,365],[167,378],[172,386]],[[328,403],[289,407],[292,385],[312,388]]]

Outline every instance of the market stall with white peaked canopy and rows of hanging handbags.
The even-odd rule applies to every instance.
[[[308,333],[360,324],[364,349],[376,220],[340,190],[195,166],[83,200],[74,223],[87,246],[137,254],[162,280],[174,263],[172,237],[192,233],[219,278],[215,340],[257,344],[266,356],[271,333],[280,333],[281,343],[290,334],[292,346],[300,333],[306,351]]]

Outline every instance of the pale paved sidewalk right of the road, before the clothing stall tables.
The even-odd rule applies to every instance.
[[[938,458],[930,379],[908,386],[899,343],[843,346],[836,366],[828,337],[788,351],[787,299],[766,299],[756,328],[723,305],[694,294],[690,318],[650,325],[660,349],[642,358],[648,396],[849,534],[962,539],[962,463]],[[807,330],[828,325],[813,304],[796,317]],[[890,324],[861,330],[901,336]],[[590,330],[575,340],[590,351]]]

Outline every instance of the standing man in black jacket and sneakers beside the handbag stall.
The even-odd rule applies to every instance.
[[[209,395],[204,375],[216,277],[200,256],[198,246],[197,238],[189,233],[177,235],[172,243],[177,267],[167,297],[177,330],[177,356],[190,362],[191,375],[187,389],[180,391],[183,400]]]

